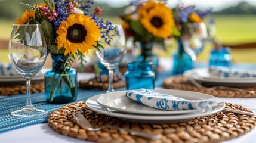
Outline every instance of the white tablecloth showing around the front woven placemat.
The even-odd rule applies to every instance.
[[[169,61],[170,62],[170,61]],[[169,63],[168,62],[168,63]],[[166,59],[162,59],[160,63],[166,64]],[[165,70],[171,69],[171,64],[168,66],[163,66]],[[78,79],[85,79],[88,77],[92,77],[93,74],[79,74]],[[256,111],[256,98],[221,98],[225,102],[230,102],[234,104],[243,105],[254,112]],[[55,132],[47,123],[40,123],[36,125],[26,126],[24,128],[14,129],[7,132],[0,133],[0,143],[11,143],[11,142],[19,142],[19,143],[57,143],[57,142],[81,142],[85,143],[88,141],[83,141],[75,138],[71,138],[68,136],[60,135]],[[246,133],[239,138],[231,139],[225,141],[225,143],[235,143],[235,142],[256,142],[256,128],[251,130],[251,132]]]

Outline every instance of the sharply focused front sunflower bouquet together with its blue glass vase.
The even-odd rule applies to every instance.
[[[91,0],[54,0],[42,4],[23,4],[27,10],[17,18],[17,23],[41,24],[48,53],[53,59],[53,70],[45,73],[45,98],[48,102],[63,103],[76,100],[76,71],[70,64],[78,58],[79,70],[84,69],[84,53],[103,46],[98,41],[104,35],[111,40],[110,21],[104,23],[98,16],[100,7],[89,14]],[[104,31],[102,29],[105,29]]]

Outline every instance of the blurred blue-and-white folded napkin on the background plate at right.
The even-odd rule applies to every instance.
[[[256,77],[256,73],[254,71],[230,69],[229,67],[218,66],[211,66],[209,68],[209,74],[219,77]]]

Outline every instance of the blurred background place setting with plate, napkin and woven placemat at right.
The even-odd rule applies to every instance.
[[[183,89],[217,97],[255,97],[254,70],[226,66],[209,66],[184,71],[182,76],[165,79],[168,89]]]

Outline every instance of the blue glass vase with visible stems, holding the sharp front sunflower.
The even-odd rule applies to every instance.
[[[45,100],[63,104],[76,100],[77,72],[69,67],[69,55],[51,54],[53,69],[45,73]]]

